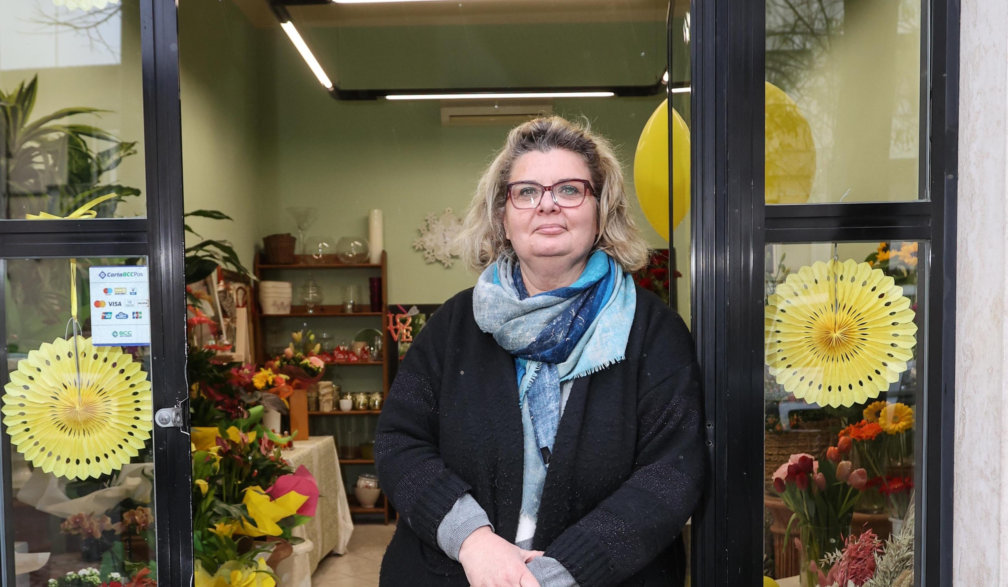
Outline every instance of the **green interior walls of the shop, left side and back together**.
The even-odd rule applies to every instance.
[[[412,242],[428,212],[465,211],[508,127],[443,127],[436,103],[333,100],[278,27],[253,29],[227,2],[180,3],[179,31],[186,209],[217,208],[236,221],[194,228],[231,240],[251,264],[262,237],[296,235],[289,206],[319,208],[307,236],[334,241],[367,238],[368,210],[380,208],[391,301],[439,303],[475,283],[461,266],[425,263]],[[660,100],[558,100],[554,111],[587,116],[617,146],[632,184],[637,138]],[[633,207],[649,243],[667,246],[636,199]],[[298,287],[306,275],[278,277]],[[342,301],[338,278],[316,277],[326,303]]]

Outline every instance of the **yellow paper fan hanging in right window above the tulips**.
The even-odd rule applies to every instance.
[[[768,298],[766,363],[784,390],[809,404],[862,404],[906,371],[913,317],[903,288],[881,269],[817,261]]]

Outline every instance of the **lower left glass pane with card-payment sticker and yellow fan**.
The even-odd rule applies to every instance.
[[[0,260],[2,505],[18,587],[156,580],[145,265]]]

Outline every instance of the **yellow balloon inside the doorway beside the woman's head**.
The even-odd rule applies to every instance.
[[[668,100],[647,119],[637,141],[633,181],[651,228],[668,240],[668,218],[677,227],[689,208],[689,129],[672,109],[672,210],[668,210]]]

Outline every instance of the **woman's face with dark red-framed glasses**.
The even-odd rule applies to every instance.
[[[592,174],[580,155],[564,149],[531,151],[518,157],[508,183],[534,181],[552,185],[562,179],[591,180]],[[578,207],[560,207],[552,192],[545,192],[534,208],[518,209],[508,200],[504,206],[504,231],[522,264],[536,258],[565,257],[571,264],[592,252],[599,234],[598,201],[594,192]]]

